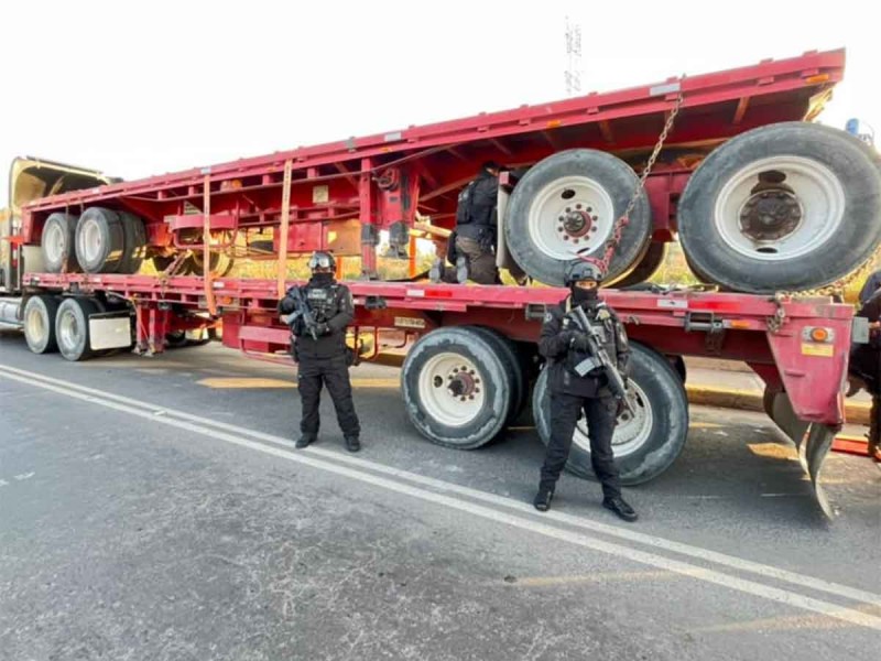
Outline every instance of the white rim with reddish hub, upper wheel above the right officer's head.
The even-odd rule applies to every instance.
[[[580,215],[581,220],[576,216]],[[581,225],[579,227],[579,225]],[[586,176],[565,176],[542,188],[530,206],[532,243],[545,256],[568,260],[600,248],[614,225],[606,189]]]

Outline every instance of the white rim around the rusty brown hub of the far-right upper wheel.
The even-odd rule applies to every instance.
[[[758,238],[744,229],[742,217],[749,203],[759,195],[752,193],[759,175],[770,171],[785,174],[783,183],[792,189],[800,217],[792,221],[794,227],[781,229],[783,236]],[[751,163],[728,180],[716,199],[713,221],[732,250],[751,259],[775,262],[822,248],[841,227],[844,212],[844,187],[828,167],[802,156],[773,156]]]

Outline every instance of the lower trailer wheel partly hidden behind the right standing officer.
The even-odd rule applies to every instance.
[[[639,485],[661,475],[679,456],[688,434],[688,402],[679,376],[666,358],[638,343],[631,343],[630,347],[628,394],[635,413],[624,412],[618,419],[612,449],[621,484]],[[547,370],[539,376],[532,402],[535,426],[547,445],[551,441]],[[566,468],[578,477],[596,479],[587,431],[583,416],[575,429]]]

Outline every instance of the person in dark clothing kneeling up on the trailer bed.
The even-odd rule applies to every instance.
[[[498,231],[499,172],[502,166],[487,161],[480,173],[459,193],[456,229],[447,258],[456,264],[445,269],[443,260],[435,261],[429,277],[434,282],[466,282],[501,284],[496,266]]]

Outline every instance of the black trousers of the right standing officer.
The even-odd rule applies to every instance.
[[[606,498],[620,496],[621,481],[612,454],[618,404],[612,397],[584,398],[562,392],[551,393],[551,443],[547,444],[539,488],[554,490],[569,458],[572,435],[583,410],[587,416],[590,436],[590,462],[602,485],[602,495]]]

